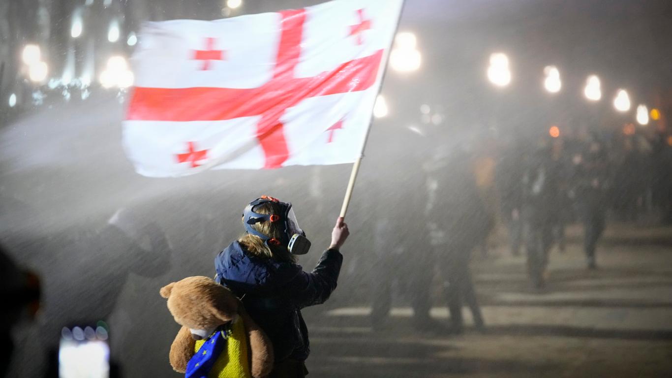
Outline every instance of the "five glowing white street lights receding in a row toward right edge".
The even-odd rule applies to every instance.
[[[546,66],[544,68],[544,88],[549,93],[558,93],[562,88],[560,80],[560,71],[555,66]],[[487,77],[493,85],[497,87],[506,87],[511,83],[511,69],[509,67],[509,57],[502,52],[494,52],[490,55],[490,64],[487,69]],[[590,75],[586,79],[583,95],[590,101],[597,102],[602,98],[601,85],[597,75]],[[630,96],[625,89],[618,89],[614,97],[614,108],[618,112],[628,112],[631,108]],[[654,112],[655,110],[655,112]],[[654,113],[656,114],[655,116]],[[659,112],[656,109],[651,110],[651,118],[658,119]],[[636,120],[642,126],[648,124],[649,112],[646,105],[637,106]]]

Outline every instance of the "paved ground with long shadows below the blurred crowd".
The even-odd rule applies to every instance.
[[[308,370],[316,377],[669,377],[670,235],[612,226],[597,271],[585,270],[575,235],[564,254],[552,253],[544,291],[530,289],[522,257],[503,248],[476,256],[485,334],[419,334],[403,301],[383,332],[372,332],[364,303],[312,309]],[[435,305],[431,315],[445,321],[446,307]],[[470,324],[466,310],[465,317]]]

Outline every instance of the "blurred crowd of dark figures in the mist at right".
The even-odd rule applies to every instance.
[[[474,251],[487,256],[498,224],[511,253],[524,254],[530,285],[542,289],[550,251],[566,250],[566,226],[581,226],[586,266],[594,270],[607,218],[631,227],[672,220],[672,144],[661,135],[583,128],[560,137],[449,141],[425,130],[405,133],[398,141],[386,136],[389,151],[373,157],[380,178],[364,194],[376,204],[375,258],[366,270],[374,330],[386,328],[400,299],[412,305],[418,330],[462,332],[463,306],[476,329],[485,329],[469,263]],[[431,147],[401,153],[421,143]],[[429,316],[437,291],[448,307],[446,325]]]

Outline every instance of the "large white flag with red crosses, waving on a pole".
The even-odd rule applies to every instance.
[[[124,120],[136,171],[355,161],[402,1],[145,24]]]

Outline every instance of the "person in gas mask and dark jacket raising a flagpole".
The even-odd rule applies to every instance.
[[[299,227],[292,204],[261,196],[245,207],[245,235],[215,258],[215,280],[241,298],[245,309],[274,347],[271,377],[303,377],[308,373],[308,329],[303,307],[324,303],[336,289],[349,235],[339,217],[331,245],[312,272],[296,264],[310,242]]]

